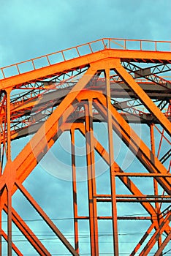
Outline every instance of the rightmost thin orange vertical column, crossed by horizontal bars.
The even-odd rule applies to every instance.
[[[151,151],[153,153],[153,156],[155,156],[155,140],[154,140],[154,134],[153,134],[153,124],[150,125],[150,133],[151,133]],[[159,195],[158,184],[155,177],[153,178],[153,190],[154,190],[154,195],[156,196]],[[157,219],[159,222],[159,202],[157,201],[155,202],[155,208],[156,208]],[[159,225],[160,225],[160,222],[159,222]],[[159,248],[162,244],[161,235],[159,235],[157,242],[158,242],[158,248]]]

